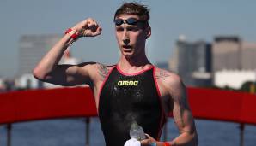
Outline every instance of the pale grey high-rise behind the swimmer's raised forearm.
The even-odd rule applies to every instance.
[[[32,73],[36,64],[60,38],[57,34],[21,36],[18,75]]]

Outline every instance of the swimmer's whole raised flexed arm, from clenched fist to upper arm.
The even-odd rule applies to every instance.
[[[101,26],[91,18],[77,23],[71,29],[78,38],[95,37],[101,34]],[[76,41],[70,34],[71,32],[65,34],[34,68],[35,78],[56,85],[80,85],[91,81],[89,71],[94,68],[94,63],[58,65],[64,51]]]

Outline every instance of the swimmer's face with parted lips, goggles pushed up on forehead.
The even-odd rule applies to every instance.
[[[116,38],[122,55],[131,58],[144,53],[146,39],[151,32],[137,15],[119,15],[115,24]]]

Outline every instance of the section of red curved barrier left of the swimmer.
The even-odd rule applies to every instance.
[[[97,116],[89,88],[14,91],[0,94],[0,124]]]

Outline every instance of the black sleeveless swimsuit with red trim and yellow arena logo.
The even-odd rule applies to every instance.
[[[101,86],[99,118],[107,146],[123,146],[130,139],[131,121],[159,139],[164,123],[160,92],[152,66],[136,74],[123,73],[118,66]]]

